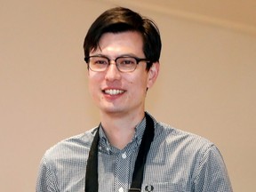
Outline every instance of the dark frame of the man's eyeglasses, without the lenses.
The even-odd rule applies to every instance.
[[[88,65],[88,69],[90,68],[90,59],[93,58],[93,57],[104,58],[104,59],[108,60],[108,67],[109,67],[109,65],[111,65],[111,63],[110,63],[111,60],[110,60],[107,56],[104,56],[104,55],[92,55],[92,56],[89,56],[89,57],[84,57],[84,61],[85,61],[85,62],[87,63],[87,65]],[[123,70],[121,70],[121,69],[119,68],[119,65],[116,63],[116,60],[118,60],[118,59],[120,59],[120,58],[132,58],[132,59],[136,60],[136,66],[135,66],[135,68],[133,68],[132,70],[128,70],[128,71],[123,71]],[[140,61],[145,61],[146,64],[150,63],[150,60],[148,60],[148,59],[146,59],[146,58],[138,58],[138,57],[128,56],[128,55],[127,55],[127,56],[124,55],[124,56],[116,57],[116,59],[113,60],[113,61],[115,61],[116,68],[118,69],[118,71],[120,71],[120,72],[122,72],[122,73],[129,73],[129,72],[134,71],[134,70],[137,68],[137,66],[138,66],[138,64],[140,63]],[[108,67],[107,67],[107,68],[108,68]],[[105,68],[104,70],[93,70],[92,68],[90,68],[90,69],[91,69],[92,71],[94,71],[94,72],[103,72],[103,71],[106,71],[107,68]]]

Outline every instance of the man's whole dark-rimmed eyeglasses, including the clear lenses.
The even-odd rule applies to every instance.
[[[110,65],[111,61],[108,57],[102,55],[85,57],[84,60],[88,64],[88,68],[96,72],[105,71]],[[149,62],[147,59],[140,59],[131,56],[117,57],[114,61],[116,62],[116,68],[121,72],[134,71],[140,61],[146,61],[147,63]]]

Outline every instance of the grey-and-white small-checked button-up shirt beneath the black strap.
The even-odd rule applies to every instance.
[[[209,140],[155,123],[141,191],[231,192],[220,151]],[[100,127],[99,191],[127,192],[146,120],[124,149],[113,148]],[[96,129],[62,140],[42,158],[36,192],[83,192],[86,162]]]

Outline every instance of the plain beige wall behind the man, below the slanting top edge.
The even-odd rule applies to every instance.
[[[1,2],[0,191],[35,191],[44,151],[99,123],[82,45],[92,20],[113,6],[104,2]],[[131,7],[156,20],[163,38],[148,111],[216,143],[235,191],[253,191],[256,35]]]

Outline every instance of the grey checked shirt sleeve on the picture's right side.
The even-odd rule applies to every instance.
[[[196,168],[195,192],[232,192],[228,171],[220,151],[214,145],[206,148]]]

